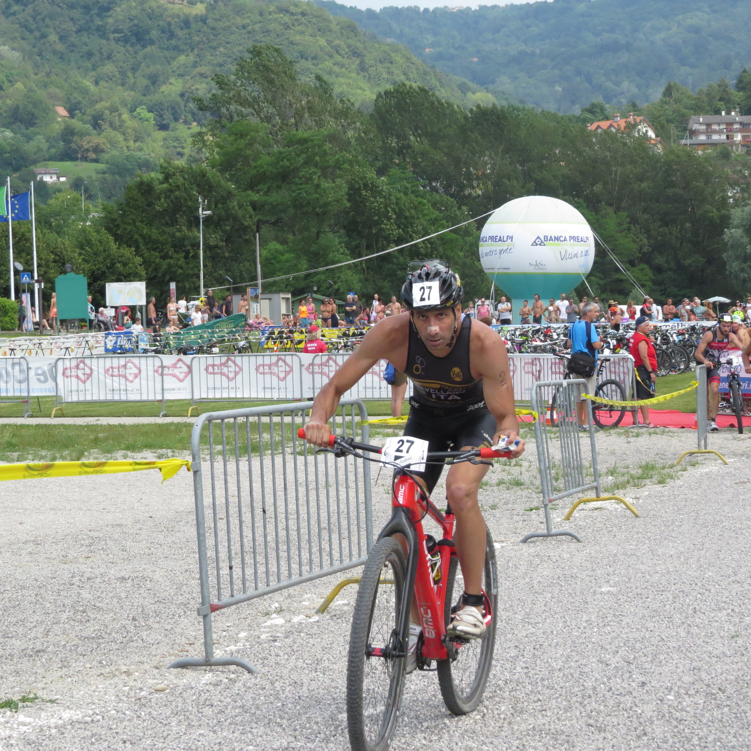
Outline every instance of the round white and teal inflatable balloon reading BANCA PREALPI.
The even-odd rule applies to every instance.
[[[544,195],[503,204],[480,236],[485,273],[514,303],[531,304],[535,293],[545,303],[569,294],[590,273],[594,258],[594,236],[584,216]]]

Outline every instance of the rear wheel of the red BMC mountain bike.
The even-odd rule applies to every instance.
[[[444,618],[446,626],[451,619],[451,604],[459,602],[463,586],[454,596],[454,583],[457,578],[459,559],[451,556],[446,581],[446,605]],[[458,589],[458,588],[457,588]],[[493,620],[487,626],[485,635],[479,640],[469,641],[460,647],[455,659],[437,661],[438,682],[443,701],[452,714],[469,714],[482,699],[493,664],[493,650],[496,646],[496,624],[498,623],[498,572],[496,571],[496,547],[486,529],[485,566],[483,589],[490,599]]]

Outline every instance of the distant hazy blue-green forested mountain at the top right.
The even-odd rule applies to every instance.
[[[462,11],[316,2],[499,98],[561,113],[593,100],[643,105],[669,81],[695,91],[751,63],[747,0],[555,0]]]

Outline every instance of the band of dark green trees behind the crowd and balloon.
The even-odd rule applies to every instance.
[[[352,289],[388,297],[409,261],[438,257],[460,272],[468,295],[487,295],[478,261],[484,219],[369,261],[292,275],[357,261],[536,194],[577,206],[658,299],[731,297],[751,286],[745,215],[731,219],[749,197],[744,154],[660,151],[637,134],[593,134],[581,116],[496,104],[466,110],[408,83],[379,92],[366,113],[301,67],[278,47],[254,45],[195,103],[204,125],[195,128],[190,161],[164,159],[135,176],[121,199],[96,208],[102,216],[89,204],[82,211],[65,190],[38,207],[41,276],[71,263],[88,276],[97,303],[113,279],[146,279],[158,300],[170,281],[180,294],[198,294],[201,195],[212,212],[204,222],[210,287],[225,275],[255,281],[258,232],[267,291],[318,285],[340,298]],[[723,233],[731,226],[728,275]],[[0,225],[0,247],[6,239]],[[29,264],[28,222],[14,224],[14,240],[16,258]],[[0,264],[0,288],[7,275]],[[600,251],[587,282],[601,297],[635,297]],[[589,294],[584,283],[578,294]]]

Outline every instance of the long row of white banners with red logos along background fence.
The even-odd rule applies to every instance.
[[[121,354],[98,357],[0,358],[0,396],[54,396],[61,402],[147,400],[312,399],[347,354]],[[532,384],[561,379],[565,363],[551,354],[508,358],[514,397],[529,402]],[[342,398],[391,399],[379,360]],[[28,368],[28,382],[27,382]],[[602,379],[631,392],[633,360],[611,355]],[[27,392],[27,388],[29,392]]]

